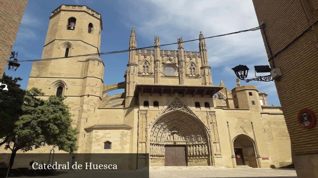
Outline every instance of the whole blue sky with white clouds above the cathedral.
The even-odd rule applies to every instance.
[[[135,27],[137,47],[141,48],[154,45],[154,36],[160,37],[160,44],[167,44],[179,37],[183,41],[197,39],[200,31],[208,37],[258,26],[251,0],[29,0],[13,46],[13,51],[19,53],[18,60],[41,58],[49,16],[61,4],[87,5],[102,15],[101,52],[128,49],[132,27]],[[254,65],[268,65],[259,30],[206,39],[206,44],[214,85],[223,80],[229,90],[234,88],[236,77],[231,68],[239,64],[250,69]],[[199,50],[198,41],[183,46],[185,50]],[[162,49],[177,49],[177,45]],[[105,62],[106,84],[124,81],[128,53],[100,58]],[[16,72],[6,71],[6,74],[22,77],[20,84],[25,89],[31,67],[32,62],[21,62]],[[252,77],[254,71],[250,70],[248,78]],[[241,84],[257,86],[268,93],[269,105],[280,105],[273,82],[241,81]]]

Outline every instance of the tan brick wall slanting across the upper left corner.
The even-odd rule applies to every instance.
[[[0,79],[2,79],[11,49],[28,0],[0,1]]]

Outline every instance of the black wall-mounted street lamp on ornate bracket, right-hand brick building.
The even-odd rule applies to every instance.
[[[264,81],[264,82],[268,82],[268,81],[273,81],[273,77],[272,77],[272,72],[273,70],[278,70],[279,68],[274,68],[273,70],[271,70],[271,68],[269,66],[254,66],[255,69],[255,77],[256,78],[252,78],[252,79],[246,79],[247,78],[247,73],[249,68],[247,66],[243,66],[243,65],[238,65],[234,68],[232,68],[232,70],[234,71],[235,75],[241,79],[241,80],[245,80],[246,82],[250,82],[252,80],[255,81]],[[279,69],[280,70],[280,69]],[[272,73],[270,75],[266,75],[266,76],[256,76],[256,73]],[[281,76],[281,73],[280,73]],[[280,77],[280,76],[277,76]],[[276,77],[276,75],[275,75]]]

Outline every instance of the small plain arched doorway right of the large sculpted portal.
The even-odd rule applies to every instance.
[[[233,147],[236,165],[248,165],[253,168],[258,167],[255,154],[255,143],[247,135],[241,134],[233,139]]]

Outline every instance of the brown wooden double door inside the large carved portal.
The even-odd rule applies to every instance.
[[[185,145],[165,145],[165,166],[186,166]]]

